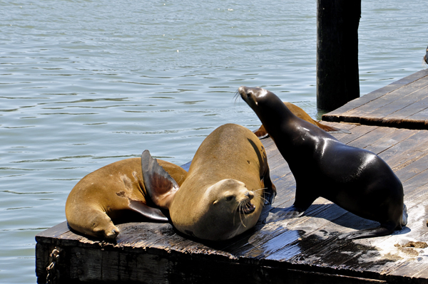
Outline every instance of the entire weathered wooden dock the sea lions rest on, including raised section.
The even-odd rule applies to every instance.
[[[427,90],[422,70],[323,116],[351,132],[335,134],[338,140],[379,154],[402,181],[409,214],[402,231],[338,240],[377,223],[321,198],[300,218],[260,221],[220,243],[186,238],[168,223],[123,223],[117,242],[108,243],[63,222],[36,236],[38,283],[46,283],[49,265],[57,283],[428,283]],[[287,163],[272,140],[263,144],[278,192],[260,220],[295,196]]]

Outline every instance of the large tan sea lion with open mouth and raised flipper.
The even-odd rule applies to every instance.
[[[178,231],[203,240],[222,241],[252,228],[263,204],[276,195],[263,144],[240,125],[222,125],[203,140],[178,190],[162,169],[155,169],[150,153],[141,161],[151,199],[169,209]]]

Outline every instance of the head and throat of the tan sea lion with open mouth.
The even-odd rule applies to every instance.
[[[209,186],[204,199],[203,217],[193,234],[211,241],[233,238],[254,226],[263,206],[260,195],[235,179]]]

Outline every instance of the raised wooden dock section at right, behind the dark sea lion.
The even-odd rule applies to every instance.
[[[428,69],[352,100],[322,120],[428,130]]]

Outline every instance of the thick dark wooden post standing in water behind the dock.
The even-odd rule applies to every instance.
[[[317,107],[335,110],[360,97],[361,0],[317,0]]]

